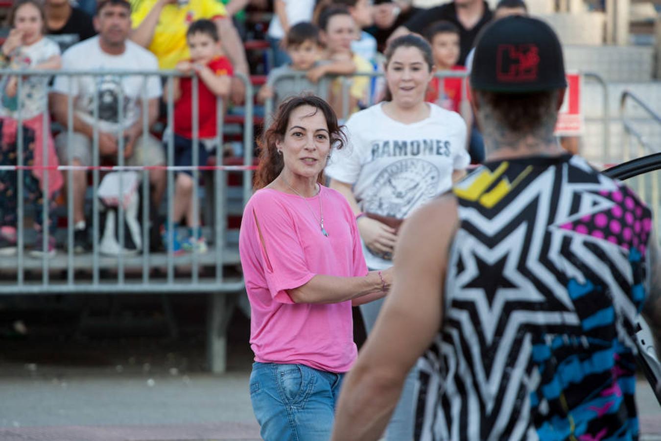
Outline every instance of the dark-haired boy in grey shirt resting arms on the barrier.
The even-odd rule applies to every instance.
[[[329,81],[327,74],[353,73],[354,63],[344,61],[319,61],[321,40],[319,28],[310,22],[294,24],[287,33],[287,54],[292,62],[284,64],[268,73],[266,84],[257,94],[257,100],[264,102],[275,99],[274,108],[282,100],[309,92],[327,99]],[[305,72],[305,77],[294,77],[295,72]],[[280,79],[278,79],[280,78]]]

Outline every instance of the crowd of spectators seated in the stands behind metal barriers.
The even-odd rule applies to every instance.
[[[229,105],[245,100],[245,86],[233,73],[250,75],[242,38],[245,39],[245,9],[269,7],[263,0],[101,0],[94,5],[85,2],[73,6],[70,0],[19,0],[9,15],[11,31],[2,46],[5,67],[23,69],[85,69],[100,73],[117,70],[150,71],[176,69],[200,78],[199,137],[201,164],[214,155],[219,145],[210,126],[215,122],[215,97],[226,97]],[[499,7],[521,5],[519,0],[504,0]],[[379,71],[388,42],[407,32],[422,34],[432,45],[436,69],[462,71],[478,32],[492,19],[493,13],[484,0],[454,0],[428,10],[412,7],[408,0],[274,0],[272,20],[265,38],[272,48],[272,65],[268,79],[256,94],[258,103],[267,100],[277,105],[286,97],[311,92],[326,99],[342,118],[365,108],[369,102],[383,99],[383,87],[368,76],[352,74]],[[93,17],[89,15],[93,13]],[[204,26],[199,27],[199,22]],[[211,24],[211,28],[209,25]],[[191,33],[191,26],[200,32]],[[205,27],[206,26],[206,27]],[[212,32],[213,31],[213,32]],[[243,37],[242,37],[243,36]],[[57,44],[55,44],[57,43]],[[203,55],[200,55],[203,54]],[[336,77],[346,75],[346,79]],[[143,133],[143,106],[147,108],[147,124],[165,116],[168,90],[165,80],[158,77],[131,75],[98,75],[69,77],[56,75],[51,85],[48,78],[26,77],[22,82],[22,99],[17,97],[17,77],[7,76],[0,84],[3,99],[0,106],[3,124],[0,162],[15,165],[16,155],[3,152],[16,149],[18,102],[23,114],[24,131],[38,142],[34,151],[24,150],[24,164],[39,166],[42,136],[47,138],[50,165],[90,166],[93,158],[117,162],[122,151],[127,165],[167,165],[161,140]],[[471,110],[461,106],[465,81],[447,79],[430,83],[427,100],[459,112],[471,125]],[[190,81],[174,81],[176,164],[191,165],[192,114]],[[98,91],[98,96],[95,97]],[[47,97],[50,94],[50,100]],[[387,97],[385,97],[387,99]],[[145,101],[146,100],[146,101]],[[53,139],[50,125],[43,121],[54,118],[62,126],[69,123],[69,103],[73,105],[73,134],[61,132]],[[96,108],[96,109],[95,109]],[[213,112],[210,111],[213,108]],[[43,114],[47,118],[43,118]],[[98,117],[98,147],[95,147],[94,120]],[[205,119],[206,118],[206,119]],[[172,129],[172,128],[171,128]],[[204,132],[204,133],[203,133]],[[469,151],[474,162],[483,158],[479,132],[473,130]],[[43,172],[35,169],[26,181],[30,200],[42,197],[56,200],[63,186],[58,171],[48,173],[50,182],[44,185]],[[163,234],[164,243],[175,241],[175,252],[198,247],[204,251],[204,238],[193,231],[190,196],[192,180],[186,173],[177,173],[175,216],[168,222],[157,221],[155,228]],[[155,210],[163,202],[166,173],[151,169],[151,204]],[[3,191],[15,189],[16,174],[0,173]],[[12,183],[13,182],[13,183]],[[85,194],[87,172],[73,172],[73,222],[75,251],[90,249],[89,222],[86,220]],[[48,188],[48,192],[44,190]],[[9,190],[7,190],[9,189]],[[11,191],[10,191],[11,190]],[[8,198],[0,207],[0,253],[15,249],[15,216],[7,213],[15,204]],[[48,204],[47,204],[48,205]],[[36,216],[41,220],[41,216]],[[48,218],[48,216],[47,216]],[[188,237],[179,241],[169,229],[177,229],[185,221]],[[39,222],[37,222],[38,224]],[[167,225],[163,225],[167,223]],[[54,225],[51,220],[49,225]],[[167,227],[166,227],[167,226]],[[36,225],[42,231],[45,225]],[[173,239],[174,237],[174,239]],[[36,253],[54,254],[54,241]],[[184,246],[188,245],[188,247]]]

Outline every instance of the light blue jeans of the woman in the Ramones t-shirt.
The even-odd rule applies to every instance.
[[[360,313],[365,323],[365,331],[369,334],[374,327],[379,311],[385,299],[370,301],[360,305]],[[415,408],[415,387],[418,378],[418,368],[413,366],[407,374],[402,388],[402,394],[399,396],[397,407],[390,417],[390,422],[385,429],[385,441],[410,441],[413,439],[413,420]]]

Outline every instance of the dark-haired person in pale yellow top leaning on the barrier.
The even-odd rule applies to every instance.
[[[352,61],[354,71],[371,72],[372,65],[351,50],[351,44],[356,39],[356,22],[346,7],[328,7],[319,15],[321,40],[326,46],[325,58],[332,61]],[[350,74],[349,74],[350,75]],[[358,102],[367,100],[369,92],[369,77],[350,77],[348,79],[348,99],[345,103],[344,85],[338,78],[331,83],[329,103],[338,118],[346,120],[350,114],[360,110]]]

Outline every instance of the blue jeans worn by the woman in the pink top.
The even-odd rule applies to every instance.
[[[327,441],[344,374],[303,364],[253,363],[250,398],[266,441]]]

